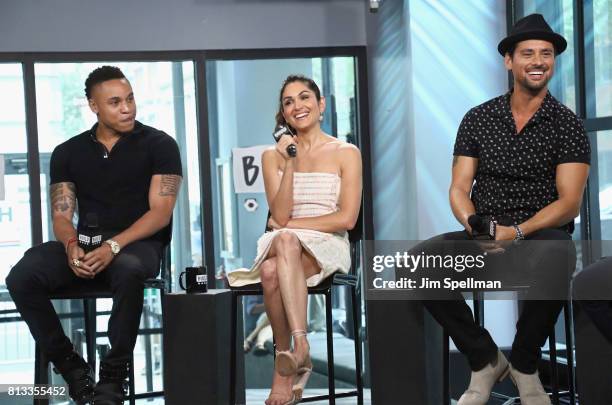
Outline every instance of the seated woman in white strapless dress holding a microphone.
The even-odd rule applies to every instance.
[[[272,231],[258,240],[250,270],[228,274],[232,286],[263,287],[277,349],[266,405],[295,404],[302,397],[312,371],[307,286],[349,271],[347,230],[355,226],[361,204],[361,155],[321,130],[325,99],[316,83],[289,76],[279,102],[277,124],[295,135],[283,136],[262,156]],[[287,153],[291,144],[297,148],[293,158]]]

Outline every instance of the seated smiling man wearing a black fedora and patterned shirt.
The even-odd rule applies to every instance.
[[[590,147],[581,121],[547,89],[555,57],[566,45],[539,14],[519,20],[500,42],[498,50],[512,71],[514,86],[463,118],[455,143],[450,202],[465,231],[434,239],[471,239],[468,218],[473,214],[498,221],[494,250],[510,243],[504,241],[571,239],[588,176]],[[568,277],[567,267],[575,266],[575,259],[568,263],[573,257],[573,252],[567,252],[568,243],[529,243],[528,256],[539,260],[539,268]],[[545,246],[550,250],[542,251]],[[550,404],[537,366],[540,348],[563,301],[524,302],[508,362],[487,330],[474,321],[461,295],[457,292],[453,298],[424,301],[424,305],[467,356],[472,369],[459,404],[486,404],[495,382],[508,372],[522,404]]]

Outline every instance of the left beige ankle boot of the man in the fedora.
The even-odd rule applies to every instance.
[[[470,386],[461,395],[457,405],[485,405],[489,400],[493,385],[506,378],[508,372],[508,360],[498,350],[495,361],[487,364],[482,370],[472,371]]]

